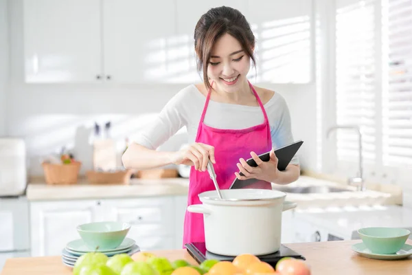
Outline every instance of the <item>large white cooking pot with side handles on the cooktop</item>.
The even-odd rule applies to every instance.
[[[202,192],[202,204],[187,211],[203,214],[208,252],[225,256],[275,253],[280,248],[282,212],[296,207],[286,193],[266,189],[229,189]]]

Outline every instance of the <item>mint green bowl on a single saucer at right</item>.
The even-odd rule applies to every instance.
[[[403,228],[361,228],[359,236],[366,248],[375,254],[396,254],[407,241],[411,232]]]

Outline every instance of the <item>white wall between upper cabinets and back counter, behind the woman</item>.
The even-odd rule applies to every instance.
[[[0,0],[4,1],[4,0]],[[8,135],[24,137],[30,157],[30,175],[41,175],[40,157],[73,147],[91,168],[89,139],[95,121],[113,124],[119,157],[124,138],[133,139],[150,123],[179,89],[185,85],[25,85],[23,83],[23,30],[21,1],[10,5],[10,95],[7,111]],[[199,78],[200,80],[200,78]],[[304,140],[299,151],[304,168],[316,168],[316,87],[310,85],[263,85],[281,93],[292,115],[295,140]],[[172,137],[161,150],[177,150],[186,135]],[[120,162],[119,162],[120,163]]]

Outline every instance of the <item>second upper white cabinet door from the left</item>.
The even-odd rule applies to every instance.
[[[174,74],[174,1],[105,0],[104,73],[115,83],[167,83]]]

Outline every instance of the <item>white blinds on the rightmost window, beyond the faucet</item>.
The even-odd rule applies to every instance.
[[[412,0],[386,0],[384,9],[382,161],[412,166]]]

